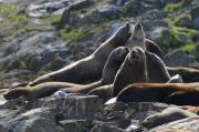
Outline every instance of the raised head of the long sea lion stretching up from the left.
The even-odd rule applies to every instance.
[[[118,39],[121,39],[123,41],[124,40],[127,41],[130,35],[132,35],[132,32],[130,32],[130,24],[129,23],[122,26],[115,32],[115,37],[117,37]]]

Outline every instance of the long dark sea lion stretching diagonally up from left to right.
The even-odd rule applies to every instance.
[[[130,37],[130,26],[121,27],[108,40],[101,44],[90,57],[78,60],[57,71],[39,77],[30,87],[42,82],[60,81],[84,84],[101,79],[104,64],[113,49],[123,47]]]

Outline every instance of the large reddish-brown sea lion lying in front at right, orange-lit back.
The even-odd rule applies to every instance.
[[[199,83],[134,83],[117,95],[123,102],[164,102],[199,105]]]

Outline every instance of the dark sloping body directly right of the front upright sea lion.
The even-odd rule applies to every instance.
[[[148,82],[167,82],[170,75],[164,61],[155,53],[145,51]]]

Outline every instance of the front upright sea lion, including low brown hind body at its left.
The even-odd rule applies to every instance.
[[[145,51],[134,47],[127,54],[121,69],[117,71],[114,83],[91,90],[88,94],[98,95],[103,101],[116,97],[119,91],[134,82],[146,82],[146,58]]]

